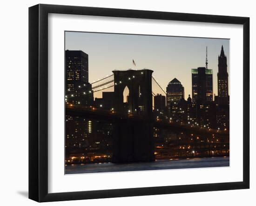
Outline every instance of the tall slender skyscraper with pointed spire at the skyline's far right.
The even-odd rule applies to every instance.
[[[216,103],[219,105],[229,104],[229,74],[227,70],[227,56],[222,46],[221,54],[218,57],[218,96]]]

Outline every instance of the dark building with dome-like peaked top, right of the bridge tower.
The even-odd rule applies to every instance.
[[[178,103],[179,100],[184,98],[184,87],[182,86],[182,83],[176,78],[171,80],[166,87],[166,98],[168,110],[170,110],[171,105],[174,102]]]

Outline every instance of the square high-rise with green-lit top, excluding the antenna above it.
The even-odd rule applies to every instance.
[[[213,83],[212,69],[198,67],[192,69],[192,100],[212,101],[213,100]]]

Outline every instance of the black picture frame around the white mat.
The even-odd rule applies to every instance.
[[[243,25],[243,181],[48,193],[48,14],[79,14]],[[38,202],[98,199],[249,188],[249,18],[39,4],[29,8],[29,199]]]

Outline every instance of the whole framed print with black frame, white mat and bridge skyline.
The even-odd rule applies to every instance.
[[[29,8],[29,198],[249,188],[249,18]]]

